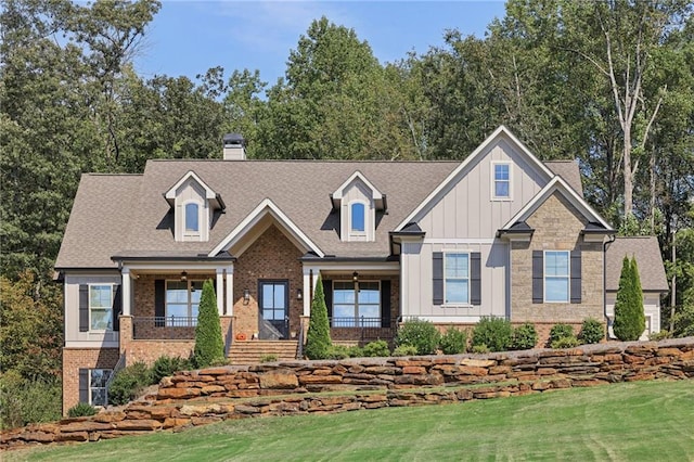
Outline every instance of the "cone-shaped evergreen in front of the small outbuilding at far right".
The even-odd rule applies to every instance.
[[[643,293],[637,260],[625,256],[615,300],[613,331],[622,342],[638,341],[645,329]]]

